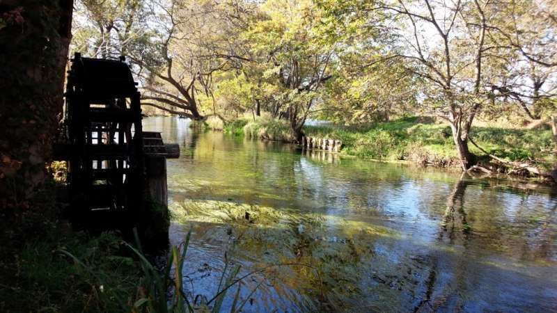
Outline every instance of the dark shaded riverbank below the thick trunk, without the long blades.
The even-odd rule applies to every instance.
[[[72,230],[49,184],[3,211],[0,312],[130,312],[141,265],[116,233]]]

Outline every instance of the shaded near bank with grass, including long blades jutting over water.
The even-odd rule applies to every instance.
[[[118,232],[73,230],[61,219],[55,184],[47,185],[0,212],[0,312],[221,312],[228,289],[239,284],[239,266],[230,266],[219,273],[215,294],[194,294],[193,284],[176,288],[187,281],[182,268],[191,232],[155,267],[154,257]],[[134,234],[136,240],[126,240],[137,242]],[[238,296],[227,312],[242,310],[247,300]]]

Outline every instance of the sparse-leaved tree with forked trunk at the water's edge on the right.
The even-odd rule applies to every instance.
[[[526,49],[526,42],[500,31],[508,24],[508,11],[518,6],[480,0],[356,1],[340,14],[352,18],[350,13],[358,12],[366,24],[375,24],[373,34],[382,35],[375,40],[374,62],[397,60],[424,82],[419,109],[448,122],[462,168],[468,170],[476,163],[468,147],[473,120],[498,97],[497,86],[510,77],[508,66],[519,56],[547,63]]]

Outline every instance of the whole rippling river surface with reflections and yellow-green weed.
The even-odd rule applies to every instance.
[[[555,189],[301,153],[178,118],[144,128],[181,147],[168,160],[171,243],[192,227],[193,296],[214,296],[226,262],[255,272],[223,304],[240,286],[244,312],[557,312]]]

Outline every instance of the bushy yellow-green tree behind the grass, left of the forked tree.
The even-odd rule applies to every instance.
[[[327,86],[322,116],[351,125],[388,122],[391,115],[405,115],[414,109],[420,79],[395,59],[370,61],[375,54],[370,56],[369,52],[362,44],[337,52],[339,61],[334,79]]]

